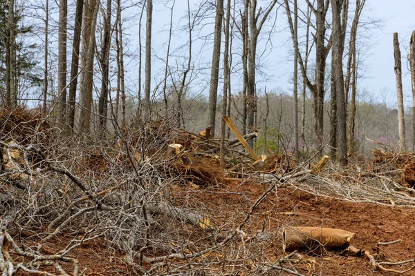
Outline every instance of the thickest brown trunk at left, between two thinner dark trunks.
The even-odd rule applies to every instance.
[[[84,25],[82,40],[82,73],[80,81],[79,119],[80,132],[88,134],[91,131],[92,88],[93,88],[93,61],[95,50],[95,25],[98,16],[100,0],[84,1],[82,25]]]

